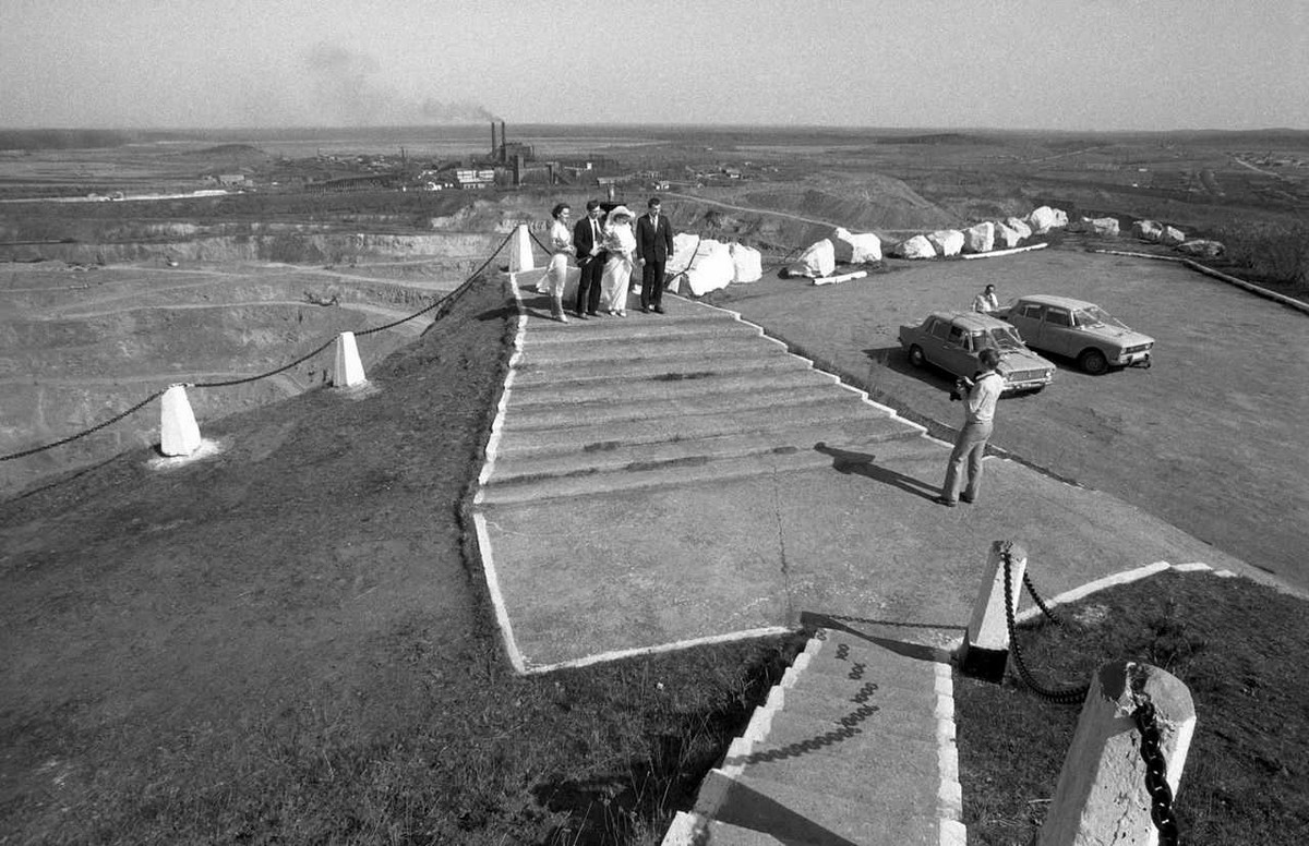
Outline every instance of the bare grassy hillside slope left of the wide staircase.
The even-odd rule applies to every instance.
[[[0,503],[0,828],[305,842],[314,812],[364,813],[347,770],[431,734],[429,659],[497,649],[470,634],[487,626],[457,509],[500,390],[503,305],[499,280],[471,284],[374,367],[376,391],[224,418],[204,430],[215,458],[152,469],[135,450]],[[342,783],[279,794],[287,768]],[[344,807],[312,807],[325,795]]]

